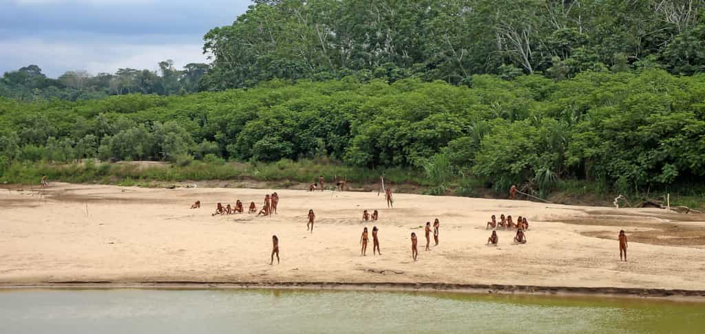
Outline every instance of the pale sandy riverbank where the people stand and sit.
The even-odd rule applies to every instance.
[[[506,284],[565,287],[705,290],[705,249],[630,242],[620,262],[615,240],[581,231],[619,226],[546,222],[601,214],[660,214],[663,210],[577,207],[523,200],[396,194],[388,210],[384,194],[309,193],[279,190],[279,214],[211,217],[215,203],[262,205],[263,189],[133,188],[51,184],[42,191],[0,191],[0,283],[62,281],[341,282]],[[201,200],[200,210],[190,210]],[[306,214],[316,212],[314,234]],[[380,219],[363,222],[362,210]],[[498,231],[487,247],[491,214],[527,216],[526,245],[512,245],[513,231]],[[440,245],[424,251],[419,226],[441,221]],[[659,219],[646,219],[658,224]],[[685,224],[685,223],[684,223]],[[687,224],[705,224],[689,222]],[[384,255],[372,255],[372,226],[379,227]],[[367,226],[367,256],[360,233]],[[627,233],[639,228],[624,228]],[[419,236],[413,262],[410,233]],[[271,236],[280,240],[281,264],[269,265]],[[433,237],[431,236],[431,245]],[[386,271],[385,271],[386,270]],[[400,274],[395,274],[396,271]],[[382,272],[383,274],[379,274]]]

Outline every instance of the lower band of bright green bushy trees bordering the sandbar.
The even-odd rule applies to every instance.
[[[0,129],[6,180],[23,161],[187,166],[194,158],[219,165],[329,157],[424,171],[437,186],[467,179],[546,193],[575,179],[634,193],[702,183],[705,75],[644,69],[558,82],[477,75],[472,88],[347,77],[187,96],[0,99]]]

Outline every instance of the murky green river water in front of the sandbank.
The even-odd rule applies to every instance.
[[[0,333],[705,333],[705,304],[314,290],[0,290]]]

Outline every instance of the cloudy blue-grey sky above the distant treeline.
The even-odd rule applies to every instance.
[[[207,63],[203,35],[230,25],[250,0],[0,0],[0,73],[34,64],[68,70],[156,70]]]

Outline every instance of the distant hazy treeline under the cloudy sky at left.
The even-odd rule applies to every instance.
[[[47,77],[37,65],[5,72],[0,77],[0,96],[24,101],[87,100],[122,94],[187,94],[199,90],[207,64],[189,63],[183,70],[173,61],[159,62],[158,71],[121,68],[114,74],[92,75],[85,70],[67,71],[57,79]]]

